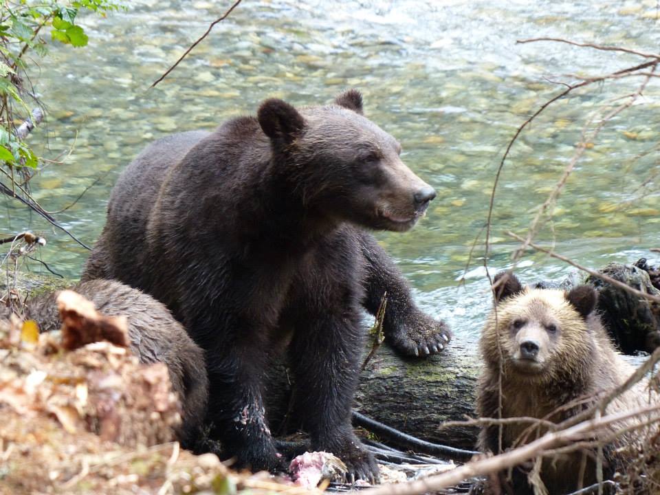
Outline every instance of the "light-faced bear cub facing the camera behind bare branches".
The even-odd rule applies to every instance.
[[[496,307],[479,346],[485,362],[477,391],[480,417],[526,417],[560,423],[593,406],[604,391],[623,384],[634,373],[615,351],[594,312],[597,292],[591,285],[570,291],[523,288],[513,274],[500,272],[494,278],[494,292]],[[637,384],[613,400],[606,413],[648,406],[647,387],[648,382],[646,386]],[[608,431],[626,426],[631,426],[630,421],[619,421]],[[547,432],[547,427],[530,428],[529,421],[521,421],[507,422],[499,430],[495,424],[481,430],[480,450],[498,453],[500,448],[529,443]],[[639,430],[624,432],[606,444],[606,478],[625,465],[641,434]],[[574,492],[597,482],[595,458],[595,448],[546,457],[540,480],[550,495]],[[517,466],[511,476],[502,472],[486,492],[533,494],[528,474],[529,466]]]

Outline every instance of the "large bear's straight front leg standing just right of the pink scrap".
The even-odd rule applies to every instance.
[[[359,312],[348,317],[301,316],[289,351],[296,379],[295,408],[311,436],[311,449],[342,459],[349,468],[347,481],[376,481],[377,464],[351,426],[362,349]]]

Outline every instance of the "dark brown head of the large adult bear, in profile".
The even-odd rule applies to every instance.
[[[401,161],[399,142],[364,117],[358,91],[325,107],[295,109],[283,100],[266,100],[257,118],[270,139],[274,165],[310,211],[366,228],[405,231],[435,197]]]

